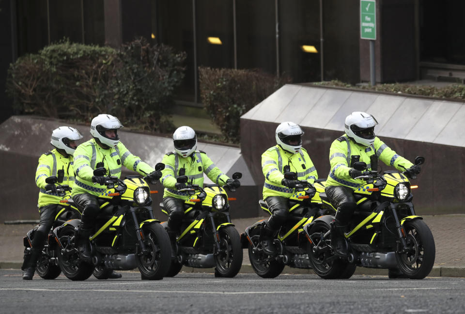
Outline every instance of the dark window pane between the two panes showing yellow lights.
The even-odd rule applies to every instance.
[[[275,3],[236,0],[237,67],[276,73]]]

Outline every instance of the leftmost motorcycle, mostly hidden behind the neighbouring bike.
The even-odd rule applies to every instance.
[[[37,266],[35,268],[36,273],[43,279],[55,279],[62,272],[58,266],[58,246],[53,236],[53,229],[62,225],[67,220],[76,219],[81,217],[81,213],[77,207],[67,203],[70,198],[71,188],[67,185],[57,184],[58,178],[56,176],[50,176],[45,179],[47,184],[56,184],[57,195],[62,197],[60,204],[57,207],[57,215],[53,221],[53,225],[50,228],[50,232],[45,240],[44,247],[40,252],[39,259],[37,260]],[[50,191],[47,191],[50,192]],[[32,249],[32,239],[34,238],[35,232],[39,226],[29,230],[26,236],[23,238],[24,244],[24,261],[28,259]],[[24,269],[25,265],[21,267]]]

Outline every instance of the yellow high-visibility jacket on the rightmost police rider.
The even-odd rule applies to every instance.
[[[362,179],[353,179],[349,175],[349,171],[352,169],[350,167],[352,156],[359,155],[359,161],[367,164],[367,170],[372,170],[370,156],[374,154],[378,156],[379,160],[389,166],[395,167],[399,171],[405,170],[400,166],[407,169],[413,166],[410,161],[397,155],[395,151],[390,149],[378,137],[375,137],[372,146],[366,147],[349,139],[347,135],[344,134],[333,141],[329,148],[329,163],[331,164],[331,170],[329,171],[328,179],[326,180],[326,186],[346,186],[356,189],[363,184],[364,181]]]

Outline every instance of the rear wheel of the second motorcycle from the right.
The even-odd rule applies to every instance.
[[[253,244],[260,245],[259,238],[259,235],[252,235],[250,240]],[[268,254],[263,253],[262,250],[256,251],[254,253],[250,243],[248,244],[248,258],[255,273],[262,278],[278,277],[284,269],[284,264],[277,261]]]

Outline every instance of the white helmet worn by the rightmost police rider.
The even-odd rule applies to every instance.
[[[357,143],[369,147],[374,142],[374,126],[377,124],[371,114],[356,111],[345,118],[344,131]]]

